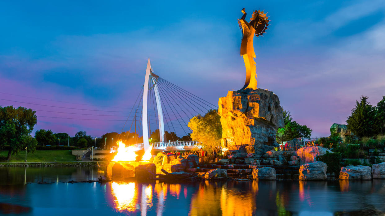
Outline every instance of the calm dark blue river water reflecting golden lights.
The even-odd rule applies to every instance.
[[[96,180],[99,175],[93,167],[1,167],[0,215],[385,213],[385,180],[67,183]]]

